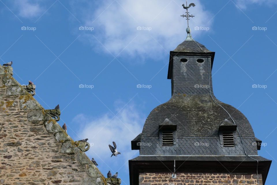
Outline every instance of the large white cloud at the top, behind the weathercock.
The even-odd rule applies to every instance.
[[[180,16],[185,14],[181,6],[183,3],[181,0],[103,1],[93,13],[84,15],[85,25],[94,27],[93,32],[81,33],[86,34],[95,49],[101,47],[115,56],[124,49],[123,53],[130,56],[138,54],[156,58],[161,53],[175,49],[186,38],[186,18]],[[205,31],[196,31],[194,27],[210,27],[212,15],[199,0],[194,3],[196,6],[191,7],[189,12],[195,16],[190,20],[192,34],[195,36]],[[137,30],[137,27],[146,30]]]

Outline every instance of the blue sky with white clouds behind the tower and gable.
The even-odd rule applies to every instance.
[[[238,108],[263,141],[259,155],[277,171],[277,2],[194,0],[193,38],[215,51],[215,96]],[[106,175],[129,185],[131,140],[148,114],[171,98],[169,52],[186,38],[184,0],[0,0],[0,59],[14,78],[36,85],[35,99],[61,109],[74,140]],[[139,84],[143,88],[137,88]],[[117,143],[117,158],[108,144]]]

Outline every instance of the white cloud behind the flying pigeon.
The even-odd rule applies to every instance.
[[[117,108],[116,111],[120,112],[115,117],[112,113],[97,117],[78,114],[73,119],[74,124],[80,125],[78,136],[82,139],[88,138],[88,142],[93,143],[86,154],[93,156],[98,162],[103,163],[105,161],[106,165],[113,166],[115,171],[120,166],[128,168],[126,161],[135,158],[134,154],[139,155],[136,151],[131,150],[131,140],[142,132],[145,122],[145,118],[136,110],[134,105],[127,105],[122,110]],[[113,145],[113,141],[116,142],[118,151],[122,153],[116,160],[113,159],[114,156],[111,158],[112,153],[108,147],[109,144]],[[111,164],[108,160],[113,160],[113,163]]]

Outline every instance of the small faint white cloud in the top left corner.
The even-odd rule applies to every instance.
[[[31,0],[14,1],[14,5],[18,9],[19,16],[24,18],[33,18],[43,13],[42,7]]]

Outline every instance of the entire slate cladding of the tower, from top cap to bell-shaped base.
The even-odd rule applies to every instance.
[[[188,64],[180,63],[179,52],[188,55]],[[207,57],[206,62],[198,64],[196,59],[201,56],[212,58],[209,60]],[[239,110],[220,102],[213,95],[211,81],[213,57],[214,52],[194,40],[185,40],[171,51],[168,77],[172,80],[171,83],[174,82],[171,88],[179,91],[176,93],[174,91],[168,102],[150,112],[139,136],[140,142],[145,143],[139,146],[140,155],[235,156],[245,155],[245,152],[247,155],[258,154],[254,132],[247,118]],[[210,88],[198,88],[195,84],[209,84]],[[234,147],[223,146],[219,127],[225,119],[229,120],[229,124],[233,123],[228,113],[213,101],[210,93],[213,99],[231,114],[237,125],[241,137],[235,130]],[[162,146],[159,126],[163,123],[177,126],[173,132],[173,147]]]

